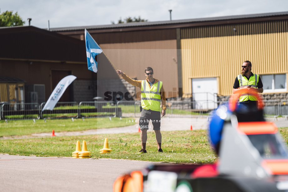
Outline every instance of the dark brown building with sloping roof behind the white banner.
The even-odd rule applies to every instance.
[[[92,101],[97,74],[87,69],[85,43],[33,26],[0,28],[0,102],[45,102],[67,75],[77,79],[59,101]]]

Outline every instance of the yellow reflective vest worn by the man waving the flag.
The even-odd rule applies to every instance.
[[[162,111],[160,109],[161,95],[160,89],[162,81],[154,83],[150,88],[147,80],[141,83],[141,107],[143,109],[151,109],[153,111]]]

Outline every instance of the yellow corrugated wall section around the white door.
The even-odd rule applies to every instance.
[[[219,94],[230,95],[245,60],[253,73],[288,73],[287,42],[287,20],[182,28],[183,92],[191,78],[218,77]]]

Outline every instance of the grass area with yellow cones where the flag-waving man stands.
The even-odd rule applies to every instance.
[[[208,144],[205,130],[162,132],[163,153],[157,153],[154,132],[148,131],[147,134],[147,154],[136,154],[141,149],[139,133],[0,140],[0,153],[72,157],[72,152],[76,149],[76,141],[79,140],[82,145],[85,140],[87,149],[92,152],[91,158],[174,163],[211,163],[217,159]],[[110,154],[99,153],[105,138],[108,138],[109,148],[112,149]]]

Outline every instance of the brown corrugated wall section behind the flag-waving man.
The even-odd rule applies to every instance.
[[[131,78],[144,80],[144,69],[152,67],[154,78],[163,82],[166,96],[177,96],[176,29],[95,33],[91,36],[117,69]],[[116,69],[114,73],[113,66],[103,54],[97,60],[97,79],[119,78]],[[140,88],[137,88],[136,92],[139,91]]]

